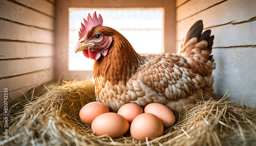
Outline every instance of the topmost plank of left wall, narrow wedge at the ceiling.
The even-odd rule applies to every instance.
[[[54,17],[54,4],[51,3],[50,1],[42,1],[42,0],[33,0],[33,1],[15,0],[15,1]]]

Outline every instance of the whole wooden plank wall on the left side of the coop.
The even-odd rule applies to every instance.
[[[0,1],[0,107],[53,79],[54,1]],[[23,92],[23,93],[22,93]]]

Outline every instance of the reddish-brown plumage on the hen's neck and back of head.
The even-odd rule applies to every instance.
[[[125,85],[139,67],[139,54],[123,35],[112,28],[101,26],[90,32],[91,35],[93,32],[102,32],[113,38],[109,53],[94,63],[94,78],[101,76],[112,85],[117,85],[120,81]]]

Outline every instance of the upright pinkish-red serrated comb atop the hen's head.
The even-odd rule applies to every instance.
[[[101,26],[103,19],[101,17],[101,15],[99,14],[99,18],[97,18],[96,15],[96,11],[93,13],[93,18],[91,17],[90,13],[88,14],[87,20],[83,18],[83,23],[81,22],[81,28],[79,31],[79,40],[87,34],[87,32],[93,28],[93,27],[97,27],[97,26]]]

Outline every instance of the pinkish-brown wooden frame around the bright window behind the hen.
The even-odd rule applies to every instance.
[[[55,80],[88,79],[93,70],[69,70],[69,8],[163,8],[164,52],[176,52],[175,1],[166,0],[69,0],[56,1]]]

